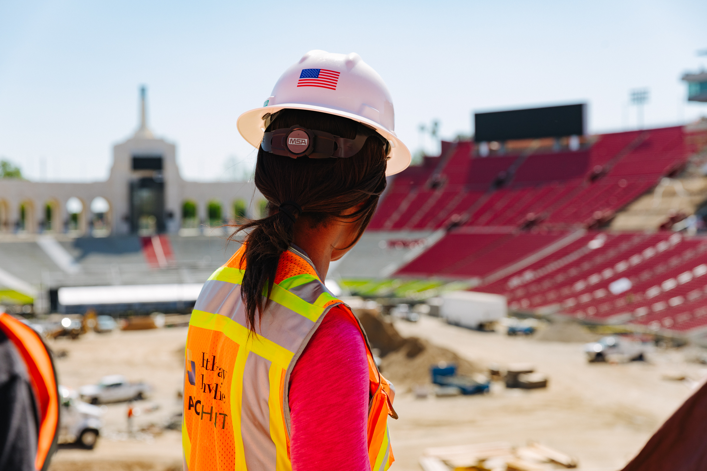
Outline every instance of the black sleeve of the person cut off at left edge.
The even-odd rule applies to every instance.
[[[0,330],[0,470],[35,471],[37,410],[25,364]]]

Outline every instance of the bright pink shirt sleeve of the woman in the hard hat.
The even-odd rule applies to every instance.
[[[293,471],[368,471],[368,361],[355,321],[332,308],[290,375]]]

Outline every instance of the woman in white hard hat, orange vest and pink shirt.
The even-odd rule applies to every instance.
[[[395,391],[329,262],[373,216],[410,153],[382,79],[358,54],[310,51],[238,119],[268,215],[204,285],[186,351],[185,468],[387,470]]]

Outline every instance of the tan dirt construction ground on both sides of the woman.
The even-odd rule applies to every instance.
[[[704,366],[686,363],[678,350],[659,350],[648,362],[588,364],[578,342],[482,333],[427,316],[417,323],[397,321],[395,327],[406,337],[424,338],[476,364],[530,362],[550,380],[542,390],[493,383],[488,395],[426,399],[414,398],[412,385],[398,385],[400,418],[389,422],[396,458],[392,470],[397,471],[419,471],[419,456],[429,446],[490,441],[520,446],[529,440],[575,456],[580,470],[616,471],[707,375]],[[134,419],[134,434],[127,433],[127,405],[107,405],[95,449],[62,446],[50,470],[181,469],[180,432],[163,426],[181,407],[177,391],[186,332],[163,328],[50,341],[56,352],[66,352],[57,359],[65,386],[78,388],[107,374],[124,374],[153,387],[148,400],[136,403],[141,413]],[[676,375],[688,379],[665,379]]]

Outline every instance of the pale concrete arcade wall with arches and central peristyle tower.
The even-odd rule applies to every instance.
[[[175,158],[176,147],[163,139],[136,136],[113,148],[113,165],[107,181],[94,183],[48,183],[13,179],[0,180],[0,232],[37,233],[68,232],[71,215],[66,209],[69,198],[81,201],[83,209],[78,214],[77,234],[90,231],[93,213],[90,204],[102,197],[110,205],[105,214],[111,234],[130,232],[130,182],[141,177],[152,177],[153,171],[132,169],[134,155],[154,155],[163,158],[161,177],[165,182],[166,232],[175,233],[182,227],[182,205],[185,201],[197,203],[197,219],[207,222],[206,208],[209,201],[222,205],[224,219],[233,217],[233,203],[243,200],[248,216],[257,216],[258,202],[264,199],[252,182],[218,181],[196,182],[182,179]],[[52,227],[47,227],[45,207],[52,206]],[[25,228],[20,230],[21,205],[25,205]]]

